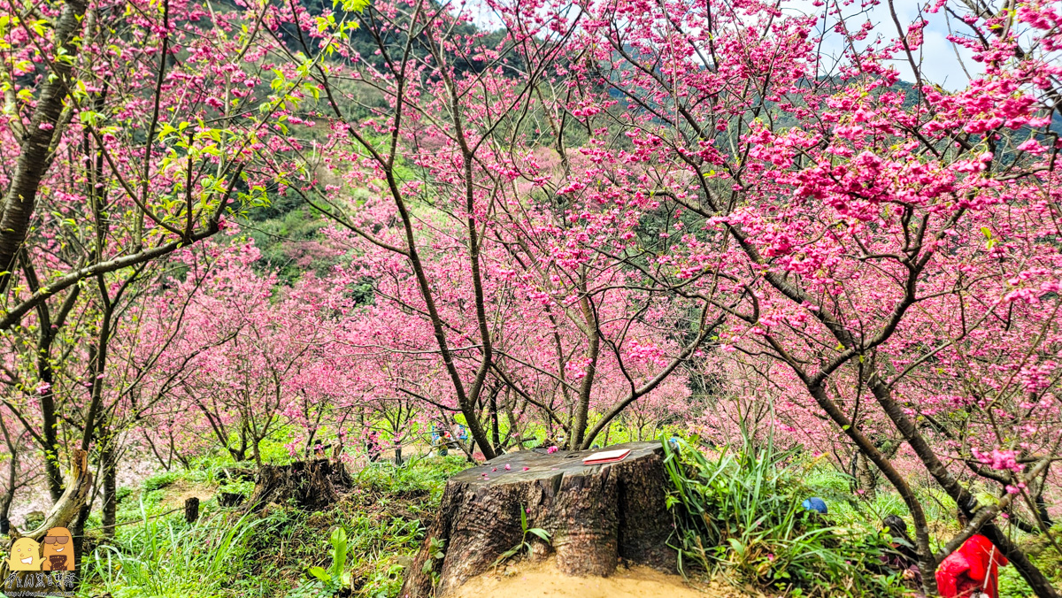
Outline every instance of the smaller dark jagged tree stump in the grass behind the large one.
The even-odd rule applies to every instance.
[[[282,505],[294,500],[299,507],[315,511],[338,502],[340,493],[353,484],[343,463],[329,459],[262,465],[247,508],[258,510],[270,502]]]

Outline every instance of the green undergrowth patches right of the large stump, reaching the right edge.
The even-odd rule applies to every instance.
[[[665,443],[665,452],[676,530],[672,544],[684,574],[705,573],[768,595],[918,595],[911,582],[880,565],[880,556],[889,550],[883,519],[910,519],[896,493],[879,489],[870,497],[857,495],[851,477],[821,459],[780,450],[770,442],[753,446],[743,440],[706,448],[695,437],[678,447]],[[955,503],[937,489],[914,490],[925,506],[930,543],[939,550],[959,531]],[[826,501],[827,515],[803,509],[811,496]],[[1062,587],[1062,557],[1050,541],[1004,529]],[[1060,533],[1062,525],[1055,536]],[[1013,566],[999,569],[1000,598],[1033,596]]]

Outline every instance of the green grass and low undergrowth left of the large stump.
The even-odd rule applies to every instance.
[[[192,525],[179,512],[152,515],[166,512],[167,491],[196,483],[189,477],[217,484],[216,473],[155,476],[135,500],[120,505],[120,522],[137,512],[147,520],[119,527],[113,542],[86,551],[79,595],[324,598],[333,594],[309,571],[331,564],[329,539],[342,529],[350,595],[393,597],[446,479],[466,466],[458,457],[374,464],[354,474],[354,489],[342,500],[316,512],[271,503],[244,514],[211,498]]]

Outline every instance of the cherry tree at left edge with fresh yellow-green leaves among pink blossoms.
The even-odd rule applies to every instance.
[[[297,144],[284,123],[316,91],[301,65],[270,62],[292,18],[209,2],[3,6],[0,383],[53,500],[64,447],[115,469],[112,417],[136,408],[110,387],[109,348],[165,278],[154,262],[284,183],[267,174]]]

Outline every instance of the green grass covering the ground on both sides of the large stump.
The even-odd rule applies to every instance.
[[[614,430],[611,442],[629,440]],[[671,435],[670,430],[665,433]],[[872,499],[856,497],[851,479],[825,463],[773,445],[748,442],[714,449],[669,450],[670,502],[678,524],[673,543],[686,571],[703,569],[737,585],[789,596],[896,596],[895,576],[881,575],[884,549],[878,523],[907,516],[894,493],[880,489]],[[272,454],[281,446],[269,446]],[[667,448],[666,448],[667,449]],[[185,524],[182,493],[213,496],[249,494],[253,482],[230,481],[221,469],[227,456],[206,457],[188,471],[164,472],[136,489],[120,489],[116,539],[98,545],[99,515],[89,522],[86,561],[79,569],[83,598],[324,598],[335,596],[311,567],[333,565],[338,530],[345,536],[344,586],[352,596],[397,596],[405,566],[424,540],[446,480],[468,464],[463,455],[413,458],[402,466],[377,463],[353,475],[355,488],[342,501],[319,512],[271,505],[241,516],[205,500],[202,517]],[[247,465],[242,463],[241,465]],[[200,492],[202,491],[202,492]],[[950,503],[942,495],[923,502],[933,530],[955,531]],[[828,518],[800,508],[808,496],[829,503]],[[142,519],[148,520],[142,520]],[[132,523],[130,523],[132,522]],[[1054,548],[1021,539],[1045,573],[1062,575]],[[1056,580],[1062,581],[1062,580]],[[333,590],[333,588],[331,588]],[[1003,598],[1032,596],[1013,567],[1000,569]]]

